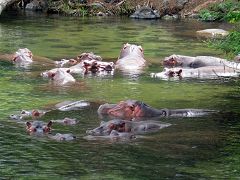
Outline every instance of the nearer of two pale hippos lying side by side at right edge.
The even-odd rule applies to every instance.
[[[170,78],[198,78],[198,79],[219,79],[221,77],[238,77],[240,70],[225,66],[206,66],[200,68],[164,68],[160,73],[151,73],[151,77],[168,80]]]

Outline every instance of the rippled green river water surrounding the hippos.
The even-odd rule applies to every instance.
[[[0,179],[239,179],[239,80],[162,81],[150,78],[171,54],[222,56],[195,37],[195,31],[222,24],[141,21],[128,18],[2,16],[0,53],[27,47],[54,60],[94,52],[115,61],[123,43],[142,45],[150,62],[138,77],[77,76],[77,84],[53,87],[39,73],[0,62]],[[74,142],[29,136],[8,118],[21,109],[41,109],[65,100],[88,100],[80,111],[47,114],[43,120],[77,118],[76,126],[54,125],[53,133],[73,133]],[[99,125],[101,102],[137,99],[156,108],[205,108],[219,113],[201,118],[168,118],[172,126],[131,142],[90,141]]]

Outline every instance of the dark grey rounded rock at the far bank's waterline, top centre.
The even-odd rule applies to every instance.
[[[137,9],[130,17],[136,19],[157,19],[160,18],[160,15],[150,7],[141,7]]]

